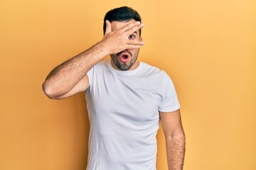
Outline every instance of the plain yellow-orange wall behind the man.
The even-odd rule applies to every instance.
[[[184,169],[256,169],[256,1],[0,1],[0,169],[87,164],[83,94],[48,99],[53,67],[102,40],[111,8],[142,16],[139,60],[166,70],[181,103]],[[159,130],[157,169],[167,169]],[[139,170],[139,169],[138,169]]]

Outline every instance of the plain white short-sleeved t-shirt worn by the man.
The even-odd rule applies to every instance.
[[[155,170],[159,111],[180,107],[170,77],[144,62],[119,71],[110,60],[97,63],[87,76],[87,170]]]

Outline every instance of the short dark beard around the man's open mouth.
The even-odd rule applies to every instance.
[[[118,60],[119,56],[122,55],[122,53],[124,53],[124,52],[127,52],[127,53],[129,54],[129,57],[131,57],[131,60],[129,60],[129,62],[120,62],[120,61]],[[130,68],[134,65],[134,63],[136,62],[137,57],[138,57],[138,54],[139,54],[139,52],[137,52],[136,54],[132,55],[132,53],[129,52],[128,50],[124,50],[124,51],[119,52],[119,53],[117,53],[117,54],[110,55],[110,57],[111,57],[112,62],[114,63],[114,65],[115,65],[118,69],[120,69],[120,70],[122,70],[122,71],[127,71],[127,70],[130,69]]]

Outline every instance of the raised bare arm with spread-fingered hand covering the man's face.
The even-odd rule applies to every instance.
[[[138,22],[129,23],[119,30],[112,31],[111,24],[106,21],[107,28],[102,41],[85,50],[85,52],[55,67],[46,81],[43,91],[49,98],[67,98],[89,86],[87,72],[103,57],[125,49],[139,48],[144,42],[129,40],[128,36],[143,27]]]

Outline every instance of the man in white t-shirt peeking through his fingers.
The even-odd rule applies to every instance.
[[[169,170],[183,169],[185,135],[174,85],[164,71],[137,60],[144,45],[139,13],[114,8],[104,21],[104,38],[53,69],[43,91],[55,99],[85,91],[87,170],[156,169],[160,118]],[[106,55],[111,60],[100,62]]]

